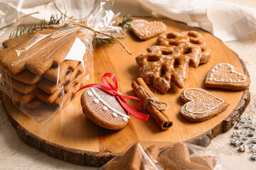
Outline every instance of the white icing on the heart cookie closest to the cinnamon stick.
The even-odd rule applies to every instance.
[[[206,103],[205,98],[200,96],[200,94],[198,94],[198,95],[193,94],[194,97],[189,98],[186,94],[187,91],[189,91],[189,90],[201,91],[201,92],[205,93],[206,95],[211,96],[213,99],[217,99],[220,102],[218,102],[218,104],[216,104],[216,103]],[[191,91],[191,93],[193,93],[193,91]],[[220,104],[224,103],[223,99],[218,98],[217,96],[214,96],[213,94],[210,94],[207,91],[203,91],[203,90],[197,89],[197,88],[186,89],[184,91],[184,96],[185,96],[185,98],[187,98],[189,100],[189,102],[186,103],[186,108],[185,108],[186,111],[188,111],[189,113],[199,113],[199,114],[208,113],[208,112],[212,111],[213,109],[217,108],[218,106],[220,106]],[[198,101],[194,101],[194,98],[197,98]],[[193,103],[193,102],[199,103],[200,106],[203,106],[203,108],[207,108],[208,110],[207,111],[192,111],[191,108],[189,108],[189,106],[190,106],[190,103]],[[200,110],[200,109],[202,109],[202,108],[197,108],[197,110]]]

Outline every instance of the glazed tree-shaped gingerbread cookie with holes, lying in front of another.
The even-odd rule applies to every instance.
[[[166,94],[174,83],[183,88],[188,79],[188,67],[198,67],[201,48],[191,44],[177,47],[154,45],[147,54],[136,57],[139,77],[146,84],[153,84],[161,93]]]

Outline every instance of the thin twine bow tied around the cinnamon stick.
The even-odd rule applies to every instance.
[[[146,96],[146,100],[143,101],[143,107],[146,108],[146,106],[151,103],[158,111],[165,111],[169,105],[164,102],[164,101],[159,101],[158,98],[151,96],[151,94],[149,94],[149,91],[147,91],[144,86],[139,86],[142,89],[142,92],[144,93],[144,95]],[[161,106],[161,104],[164,104],[165,107],[161,108],[159,107],[159,105]]]

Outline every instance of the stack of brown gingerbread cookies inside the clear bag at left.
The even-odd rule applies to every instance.
[[[65,57],[83,36],[77,29],[39,30],[6,40],[0,51],[2,90],[28,109],[70,101],[82,86],[84,67]]]

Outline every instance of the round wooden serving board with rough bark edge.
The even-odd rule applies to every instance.
[[[154,18],[144,18],[148,21]],[[183,23],[162,20],[168,26],[167,31],[197,30],[206,40],[207,47],[211,50],[210,61],[201,64],[198,68],[189,68],[188,81],[184,89],[190,87],[204,86],[204,80],[210,67],[213,65],[228,62],[233,64],[238,72],[247,74],[243,62],[235,53],[230,50],[221,40],[210,33],[198,28],[186,26]],[[101,77],[105,72],[112,72],[118,80],[119,91],[122,94],[135,96],[132,91],[132,81],[137,79],[137,63],[135,57],[146,53],[146,48],[156,45],[156,38],[140,41],[131,33],[127,33],[122,39],[124,45],[133,52],[127,52],[114,42],[114,45],[97,45],[93,57],[93,69],[90,73],[88,84],[101,84]],[[11,100],[3,94],[3,103],[11,123],[17,130],[18,136],[28,145],[46,152],[52,157],[57,157],[74,164],[88,166],[101,166],[109,161],[114,155],[122,152],[123,149],[140,140],[161,141],[161,142],[191,142],[197,145],[208,146],[210,140],[220,132],[229,130],[238,120],[247,104],[250,101],[250,93],[244,91],[228,91],[219,89],[207,89],[228,101],[230,106],[226,111],[201,123],[191,123],[180,115],[179,111],[183,102],[179,98],[181,91],[175,85],[167,94],[163,95],[150,86],[153,93],[160,101],[169,104],[167,113],[174,124],[169,130],[161,130],[153,118],[144,122],[131,115],[128,125],[122,130],[107,130],[97,126],[89,120],[80,106],[80,95],[63,109],[55,114],[45,125],[40,125],[28,118],[25,114],[11,103]],[[127,101],[131,106],[137,102]],[[142,109],[140,110],[142,111]],[[142,111],[143,112],[143,111]],[[209,140],[210,139],[210,140]]]

